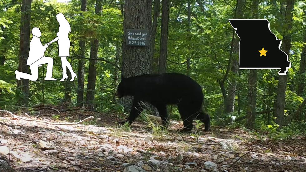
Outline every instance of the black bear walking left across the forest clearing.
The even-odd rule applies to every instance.
[[[205,124],[205,131],[210,130],[210,117],[201,110],[203,92],[201,86],[189,76],[179,73],[161,75],[139,75],[129,78],[121,77],[116,96],[133,96],[133,105],[126,122],[130,124],[141,113],[140,101],[155,106],[163,125],[168,124],[166,105],[177,105],[184,123],[181,131],[190,131],[192,121],[199,119]],[[121,122],[120,124],[124,124]]]

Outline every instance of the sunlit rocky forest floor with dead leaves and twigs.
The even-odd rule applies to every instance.
[[[179,133],[181,121],[168,131],[140,120],[129,129],[116,127],[116,120],[51,106],[31,115],[0,111],[0,171],[306,171],[304,137],[272,141],[220,128]]]

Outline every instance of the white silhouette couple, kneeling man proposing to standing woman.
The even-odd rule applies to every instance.
[[[71,27],[64,14],[58,13],[56,15],[57,22],[59,22],[60,27],[59,31],[56,34],[56,38],[52,41],[48,42],[44,46],[40,42],[40,38],[42,36],[42,32],[40,32],[38,27],[34,27],[32,29],[32,40],[30,42],[30,52],[29,57],[27,59],[27,65],[30,66],[31,75],[28,73],[22,73],[20,71],[15,71],[16,79],[20,80],[28,79],[31,81],[36,81],[38,79],[38,67],[42,66],[42,64],[47,64],[47,73],[45,80],[47,81],[56,81],[55,78],[52,78],[53,71],[53,58],[45,57],[46,48],[49,47],[53,42],[58,43],[58,57],[61,57],[62,68],[63,68],[63,78],[60,81],[67,81],[67,71],[66,67],[71,73],[71,80],[77,78],[77,74],[72,70],[71,64],[67,61],[67,56],[69,56],[69,48],[70,48],[70,40],[68,38],[69,32],[71,32]]]

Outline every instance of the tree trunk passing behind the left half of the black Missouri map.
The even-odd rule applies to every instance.
[[[253,0],[252,11],[253,19],[258,18],[258,4],[259,0]],[[249,70],[249,86],[248,86],[248,107],[247,107],[247,122],[246,127],[254,129],[256,116],[256,92],[257,92],[257,71]]]

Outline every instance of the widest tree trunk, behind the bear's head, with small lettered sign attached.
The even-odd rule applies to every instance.
[[[126,0],[123,21],[122,76],[131,77],[152,73],[151,37],[148,46],[134,47],[126,45],[126,29],[152,28],[151,0]],[[121,104],[125,110],[131,109],[131,97],[124,97]]]

